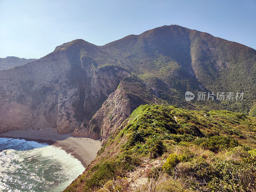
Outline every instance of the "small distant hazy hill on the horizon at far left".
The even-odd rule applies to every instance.
[[[35,61],[36,59],[24,59],[19,57],[5,57],[0,58],[0,70],[10,69],[16,66],[24,65],[26,63]]]

